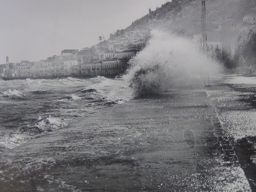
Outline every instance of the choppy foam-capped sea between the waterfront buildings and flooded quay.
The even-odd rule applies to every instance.
[[[123,79],[0,81],[0,151],[132,98]]]

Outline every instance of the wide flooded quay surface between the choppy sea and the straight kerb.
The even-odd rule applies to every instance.
[[[204,89],[132,100],[1,152],[0,191],[251,191]]]

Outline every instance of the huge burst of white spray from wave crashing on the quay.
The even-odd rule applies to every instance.
[[[220,64],[202,54],[192,38],[158,30],[152,32],[146,48],[130,64],[124,78],[130,81],[135,96],[199,85],[204,74],[221,71]]]

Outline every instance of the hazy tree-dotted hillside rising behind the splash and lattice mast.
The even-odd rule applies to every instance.
[[[98,45],[105,50],[111,44],[123,44],[126,49],[128,44],[136,47],[144,44],[154,29],[189,34],[200,40],[201,16],[202,0],[172,0],[154,11],[149,9],[148,14]],[[206,19],[208,42],[212,48],[218,44],[214,48],[219,51],[216,54],[228,63],[234,58],[238,43],[247,39],[251,31],[256,32],[256,0],[206,0]]]

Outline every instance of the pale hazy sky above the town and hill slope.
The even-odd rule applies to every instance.
[[[0,64],[82,49],[168,0],[0,0]]]

